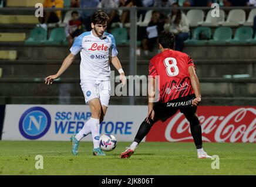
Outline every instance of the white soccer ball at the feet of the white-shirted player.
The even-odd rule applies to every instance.
[[[100,148],[103,151],[113,151],[116,144],[117,140],[112,134],[104,134],[100,137]]]

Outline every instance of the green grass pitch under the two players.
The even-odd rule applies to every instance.
[[[95,157],[91,142],[81,142],[73,156],[68,141],[0,141],[0,175],[256,175],[253,143],[204,143],[209,155],[220,157],[220,169],[211,168],[213,160],[198,160],[193,143],[142,143],[120,159],[129,144]],[[43,156],[43,169],[35,168],[36,155]]]

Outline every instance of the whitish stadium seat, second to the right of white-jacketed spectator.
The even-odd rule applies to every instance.
[[[223,9],[220,9],[220,17],[211,16],[212,11],[208,11],[206,20],[204,22],[199,22],[198,25],[202,26],[219,26],[220,23],[225,21],[225,12]]]

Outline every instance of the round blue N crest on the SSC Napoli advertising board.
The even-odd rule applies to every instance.
[[[19,120],[19,131],[29,140],[35,140],[47,133],[50,128],[50,114],[42,107],[26,110]]]

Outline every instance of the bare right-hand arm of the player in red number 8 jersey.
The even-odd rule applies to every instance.
[[[197,74],[193,65],[188,66],[188,73],[190,75],[191,85],[196,95],[196,98],[193,99],[192,105],[198,106],[201,102],[200,82],[197,78]]]

